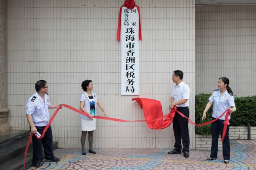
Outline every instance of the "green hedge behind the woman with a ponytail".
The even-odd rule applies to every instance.
[[[195,96],[195,120],[196,124],[201,124],[212,120],[212,107],[206,113],[206,119],[202,121],[205,106],[211,94],[199,93]],[[237,111],[231,113],[230,125],[231,126],[256,126],[256,96],[238,97],[235,96],[235,105]],[[210,135],[211,125],[196,126],[196,133],[199,135]]]

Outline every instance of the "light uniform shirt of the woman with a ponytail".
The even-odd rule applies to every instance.
[[[212,93],[212,96],[209,100],[213,103],[212,117],[219,117],[227,108],[235,106],[234,96],[230,96],[227,92],[224,92],[220,95],[220,90],[216,90]],[[220,119],[225,120],[226,114],[224,114]],[[230,119],[230,116],[228,117]]]

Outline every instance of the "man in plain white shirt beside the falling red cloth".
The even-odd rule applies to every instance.
[[[175,85],[172,88],[171,94],[171,105],[169,109],[171,110],[174,106],[177,107],[181,113],[189,117],[189,99],[190,99],[190,88],[187,84],[183,82],[183,72],[180,70],[173,71],[172,81]],[[173,132],[175,136],[175,145],[172,151],[168,154],[181,154],[181,138],[183,149],[182,152],[185,158],[189,157],[189,133],[188,133],[188,119],[181,117],[178,113],[175,114],[173,118]]]

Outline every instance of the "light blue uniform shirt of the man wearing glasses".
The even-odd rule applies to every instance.
[[[26,114],[32,115],[35,126],[46,126],[49,123],[49,96],[44,95],[44,100],[35,92],[29,97],[26,105]]]

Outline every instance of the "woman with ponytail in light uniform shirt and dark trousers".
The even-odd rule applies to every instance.
[[[233,113],[236,111],[234,103],[234,95],[229,85],[229,79],[226,77],[219,78],[218,90],[212,93],[209,98],[209,102],[205,107],[202,120],[206,118],[206,112],[210,109],[213,103],[212,120],[219,117],[227,108],[230,108],[229,112]],[[206,160],[216,160],[218,152],[218,138],[219,133],[222,136],[224,121],[226,114],[223,115],[219,120],[212,123],[212,147],[211,156]],[[228,117],[230,119],[230,116]],[[227,126],[227,132],[224,137],[223,145],[223,158],[224,163],[229,163],[230,159],[230,142],[228,137],[229,125]]]

